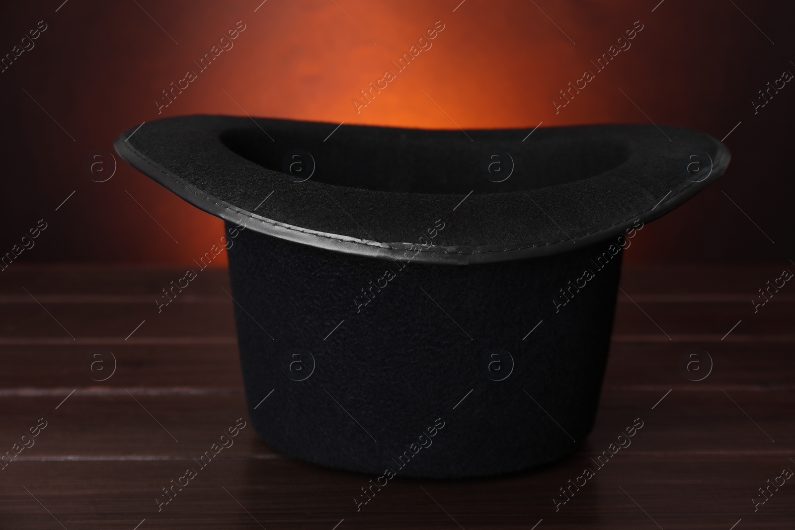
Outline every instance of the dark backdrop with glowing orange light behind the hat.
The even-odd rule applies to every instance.
[[[82,168],[91,149],[110,152],[122,130],[157,118],[161,90],[239,20],[246,30],[235,47],[161,116],[242,114],[225,90],[252,115],[454,127],[425,91],[463,128],[533,127],[541,120],[544,126],[647,122],[624,91],[654,122],[718,139],[742,121],[726,141],[733,155],[727,174],[644,230],[628,261],[792,257],[795,190],[788,156],[795,87],[788,84],[756,115],[750,103],[783,70],[795,71],[792,2],[665,0],[652,13],[658,0],[537,0],[537,6],[467,0],[455,12],[460,0],[339,0],[339,6],[331,0],[268,0],[254,12],[260,0],[138,0],[140,6],[132,0],[70,0],[56,12],[62,1],[5,2],[0,8],[2,54],[38,21],[48,24],[35,48],[0,73],[0,252],[38,219],[49,225],[21,261],[176,265],[219,237],[219,220],[121,161],[102,184]],[[351,99],[437,20],[446,27],[433,47],[355,114]],[[644,29],[632,47],[555,115],[551,101],[560,88],[592,69],[590,60],[638,20]]]

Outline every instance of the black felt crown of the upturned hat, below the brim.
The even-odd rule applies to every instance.
[[[594,421],[621,261],[607,243],[569,245],[451,267],[242,230],[229,266],[254,429],[288,455],[371,478],[388,467],[404,477],[502,474],[567,455]],[[370,280],[384,284],[386,269],[394,278],[359,307],[355,297]],[[556,307],[584,269],[593,277]],[[436,420],[444,427],[431,438]],[[424,433],[431,445],[417,450]]]

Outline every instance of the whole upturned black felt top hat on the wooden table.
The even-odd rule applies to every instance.
[[[427,477],[536,466],[588,435],[620,251],[729,162],[707,134],[639,125],[185,116],[115,147],[227,220],[263,438],[312,462]]]

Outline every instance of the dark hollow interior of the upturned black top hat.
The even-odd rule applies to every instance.
[[[284,171],[286,153],[303,149],[312,155],[312,180],[317,182],[441,195],[568,184],[616,168],[630,156],[629,147],[615,137],[567,140],[539,134],[529,141],[486,142],[467,140],[457,131],[382,130],[340,142],[333,137],[324,141],[314,131],[291,130],[271,141],[260,130],[241,128],[224,131],[220,139],[238,156],[276,172]],[[490,176],[505,180],[495,182]]]

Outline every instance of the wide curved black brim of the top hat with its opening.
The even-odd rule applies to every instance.
[[[541,127],[529,137],[530,129],[465,135],[335,126],[184,116],[147,122],[134,134],[131,128],[114,145],[204,211],[328,250],[391,259],[442,217],[455,229],[439,234],[416,260],[456,265],[615,238],[634,221],[649,222],[683,203],[729,161],[714,138],[669,126]],[[282,172],[293,149],[311,153],[309,180],[294,182]],[[494,149],[514,162],[500,183],[482,171]]]

